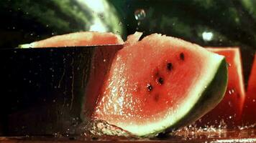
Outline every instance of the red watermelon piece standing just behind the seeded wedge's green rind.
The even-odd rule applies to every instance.
[[[198,120],[200,126],[219,126],[221,122],[227,127],[241,124],[242,107],[244,104],[244,80],[239,48],[207,48],[216,54],[226,57],[228,63],[228,84],[224,99],[211,112]]]

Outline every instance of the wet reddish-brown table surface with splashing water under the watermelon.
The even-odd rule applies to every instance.
[[[239,129],[181,129],[167,137],[126,138],[126,137],[0,137],[4,143],[51,143],[51,142],[256,142],[256,128]]]

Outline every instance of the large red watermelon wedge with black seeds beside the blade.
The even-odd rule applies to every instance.
[[[93,119],[145,137],[189,124],[221,101],[224,56],[170,36],[140,36],[117,52]]]

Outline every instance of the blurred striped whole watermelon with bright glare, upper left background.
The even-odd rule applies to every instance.
[[[76,31],[111,31],[124,34],[120,16],[106,0],[2,0],[1,48]]]

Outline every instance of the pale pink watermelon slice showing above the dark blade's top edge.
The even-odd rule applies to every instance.
[[[58,46],[93,46],[106,44],[123,44],[124,41],[112,33],[97,31],[83,31],[71,34],[52,36],[31,44],[22,44],[20,48],[58,47]]]

